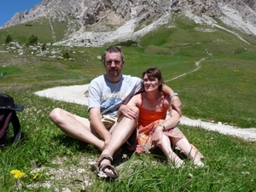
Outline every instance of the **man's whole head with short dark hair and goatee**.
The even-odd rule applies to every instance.
[[[103,64],[110,82],[119,82],[123,66],[125,65],[124,54],[118,47],[108,48],[103,55]]]

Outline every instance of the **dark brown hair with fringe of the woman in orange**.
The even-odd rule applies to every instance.
[[[143,72],[143,86],[145,88],[146,81],[154,81],[157,79],[159,82],[158,90],[162,90],[163,88],[163,78],[162,74],[160,73],[160,70],[157,68],[148,68],[145,72]]]

